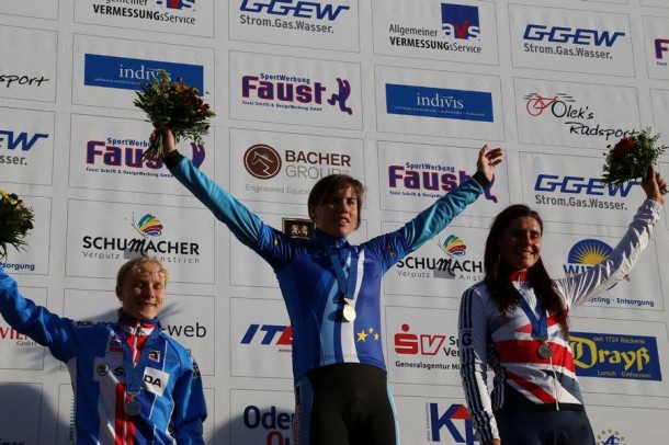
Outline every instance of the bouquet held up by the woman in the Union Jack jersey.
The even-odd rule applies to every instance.
[[[657,159],[667,149],[666,146],[657,146],[660,135],[653,135],[650,128],[630,137],[623,137],[605,153],[603,182],[605,184],[621,185],[624,182],[637,178],[644,178],[651,166],[657,164]],[[662,190],[662,194],[667,191]]]

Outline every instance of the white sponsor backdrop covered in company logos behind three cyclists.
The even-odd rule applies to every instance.
[[[271,269],[143,161],[151,127],[133,99],[160,69],[217,112],[180,150],[296,237],[324,175],[366,184],[360,242],[465,181],[485,142],[507,150],[486,194],[388,272],[383,326],[358,336],[385,345],[408,445],[476,443],[456,320],[495,215],[535,207],[551,274],[583,271],[644,196],[602,184],[606,146],[669,134],[666,0],[14,0],[0,55],[0,186],[35,210],[4,267],[50,310],[105,321],[117,267],[162,259],[163,326],[200,363],[209,444],[292,443],[292,328]],[[666,442],[668,242],[665,215],[630,279],[574,311],[599,444]],[[3,320],[0,401],[1,443],[72,443],[65,367]]]

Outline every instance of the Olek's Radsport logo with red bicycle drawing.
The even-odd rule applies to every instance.
[[[569,135],[603,137],[617,140],[637,132],[633,128],[606,128],[597,122],[596,113],[587,103],[578,102],[567,93],[544,94],[531,92],[523,96],[528,115],[537,119],[558,119]]]

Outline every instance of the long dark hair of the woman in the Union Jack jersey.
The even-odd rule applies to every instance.
[[[497,215],[492,221],[492,226],[490,226],[490,232],[486,240],[486,252],[484,255],[486,277],[484,278],[484,282],[488,286],[490,297],[499,306],[499,311],[502,316],[506,316],[509,309],[517,307],[518,293],[509,279],[509,273],[513,271],[502,261],[499,240],[511,222],[515,218],[521,217],[534,218],[538,222],[538,227],[543,235],[544,222],[538,214],[524,204],[514,204],[504,208]],[[548,276],[548,272],[546,272],[546,267],[544,267],[544,262],[541,256],[536,260],[536,263],[528,270],[528,281],[530,281],[532,287],[536,290],[536,298],[543,308],[557,319],[563,332],[567,335],[569,332],[569,324],[566,308],[562,297],[553,285],[553,281]]]

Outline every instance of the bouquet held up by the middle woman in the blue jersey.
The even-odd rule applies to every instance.
[[[168,72],[162,69],[151,82],[141,85],[134,104],[146,113],[156,128],[168,126],[177,142],[185,136],[201,144],[209,132],[208,119],[216,115],[200,99],[196,88],[186,85],[181,78],[170,82]],[[163,155],[162,138],[162,132],[157,132],[144,152],[144,159],[151,160]]]

